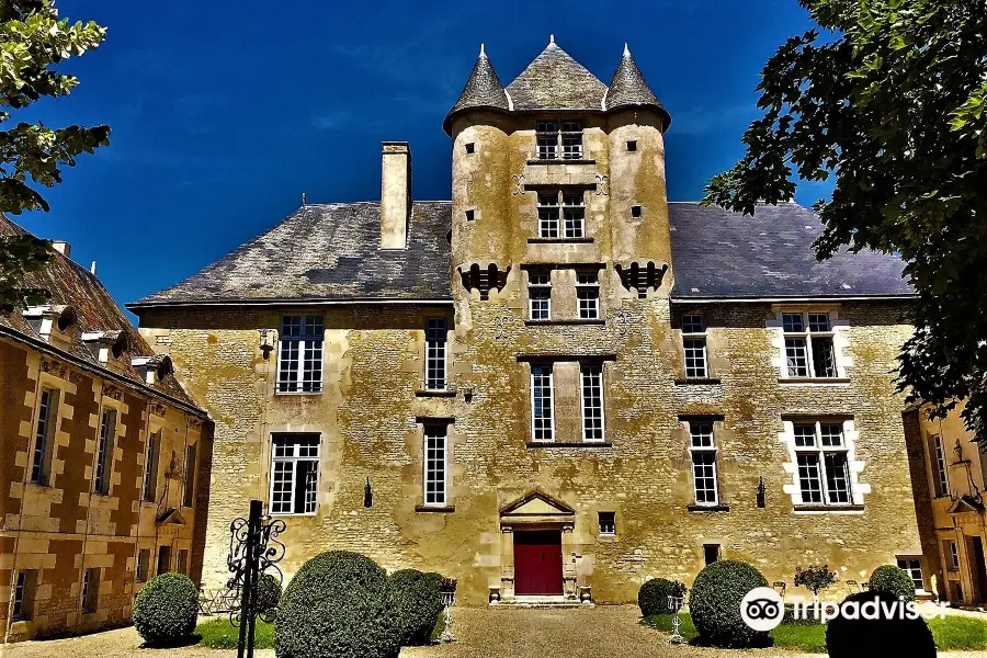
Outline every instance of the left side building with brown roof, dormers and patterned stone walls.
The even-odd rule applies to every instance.
[[[0,216],[0,237],[25,231]],[[212,429],[95,274],[56,242],[0,314],[2,640],[126,624],[150,577],[198,580]]]

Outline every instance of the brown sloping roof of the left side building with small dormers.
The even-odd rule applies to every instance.
[[[23,227],[0,215],[0,237],[27,232]],[[173,376],[149,386],[140,373],[131,365],[131,358],[155,356],[155,351],[137,332],[95,274],[91,274],[89,270],[80,266],[70,258],[56,252],[54,260],[44,270],[25,276],[24,285],[47,290],[52,293],[52,298],[47,304],[67,305],[75,311],[75,322],[66,330],[69,338],[68,343],[53,342],[46,349],[64,353],[70,360],[88,366],[106,370],[106,366],[100,364],[89,347],[82,342],[82,333],[87,331],[122,331],[126,336],[126,358],[121,360],[122,363],[114,364],[109,370],[133,385],[141,388],[150,387],[181,402],[189,410],[205,417],[205,412],[195,405]],[[26,339],[26,342],[41,340],[37,332],[24,319],[21,310],[14,310],[9,315],[0,314],[0,331]]]

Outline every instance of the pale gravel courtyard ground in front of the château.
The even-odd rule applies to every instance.
[[[600,605],[577,610],[457,609],[450,645],[406,648],[401,658],[764,658],[813,656],[780,649],[727,651],[696,647],[669,647],[666,636],[637,623],[632,605]],[[2,658],[231,658],[235,650],[200,647],[141,649],[133,628],[109,631],[86,637],[27,642],[0,649]],[[940,654],[960,658],[985,653]],[[274,658],[273,650],[257,651],[258,658]]]

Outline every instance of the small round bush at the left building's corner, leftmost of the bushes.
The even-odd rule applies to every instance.
[[[150,646],[188,639],[198,619],[198,588],[181,574],[161,574],[145,583],[134,602],[134,626]]]

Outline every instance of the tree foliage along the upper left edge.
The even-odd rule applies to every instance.
[[[0,213],[48,211],[36,186],[61,182],[77,156],[109,144],[110,128],[50,128],[16,122],[15,114],[44,97],[64,97],[79,83],[56,70],[71,56],[95,48],[106,29],[60,19],[52,0],[0,0]],[[50,242],[29,235],[0,237],[0,313],[43,300],[47,293],[22,287],[25,274],[52,259]]]

